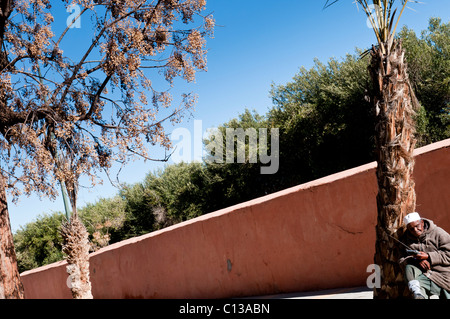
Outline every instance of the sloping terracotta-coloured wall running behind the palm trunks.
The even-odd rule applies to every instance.
[[[224,298],[365,285],[375,163],[91,255],[95,298]],[[450,231],[450,140],[416,150],[417,210]],[[65,262],[24,272],[27,298],[70,298]]]

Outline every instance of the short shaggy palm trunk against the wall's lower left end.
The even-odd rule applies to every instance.
[[[67,273],[74,299],[92,299],[89,279],[89,234],[77,214],[61,227],[63,252],[67,254]]]

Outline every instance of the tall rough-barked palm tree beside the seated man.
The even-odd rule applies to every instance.
[[[338,0],[328,0],[325,7]],[[401,5],[399,3],[401,2]],[[375,264],[381,267],[381,287],[374,298],[401,298],[408,294],[398,264],[396,241],[404,231],[403,217],[415,210],[416,196],[412,173],[414,114],[418,107],[411,88],[405,51],[395,37],[399,20],[408,0],[356,0],[367,15],[375,32],[377,44],[367,51],[372,78],[371,101],[375,111],[375,142],[378,194]],[[398,9],[400,12],[396,16]]]

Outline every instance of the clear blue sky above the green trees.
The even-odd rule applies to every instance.
[[[197,73],[196,83],[176,82],[174,95],[195,92],[198,103],[190,119],[178,127],[193,132],[194,120],[202,128],[218,126],[242,113],[245,108],[265,114],[271,107],[271,83],[284,84],[292,79],[301,66],[311,67],[314,58],[326,62],[354,53],[355,48],[369,48],[375,36],[366,26],[366,17],[358,11],[353,0],[340,0],[323,9],[325,0],[207,0],[207,12],[216,20],[214,39],[207,47],[208,72]],[[411,3],[413,10],[404,13],[401,25],[417,33],[428,26],[430,17],[450,18],[449,0],[429,0]],[[69,13],[54,12],[64,21]],[[74,36],[83,35],[72,29]],[[169,126],[170,132],[175,127]],[[155,150],[155,156],[163,152]],[[170,164],[170,162],[169,162]],[[136,183],[148,172],[164,164],[133,162],[121,171],[120,181]],[[80,189],[79,207],[101,197],[112,197],[117,189],[105,178],[104,185]],[[61,198],[56,201],[24,197],[15,205],[9,202],[13,231],[34,220],[38,215],[63,211]]]

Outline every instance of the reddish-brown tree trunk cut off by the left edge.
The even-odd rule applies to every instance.
[[[16,251],[9,222],[6,185],[0,173],[0,299],[23,299]]]

